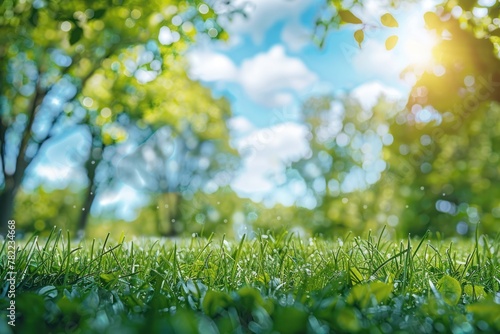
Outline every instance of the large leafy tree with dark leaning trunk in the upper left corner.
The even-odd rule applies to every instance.
[[[88,214],[96,190],[95,161],[106,145],[125,135],[111,116],[154,118],[160,102],[148,100],[153,92],[146,83],[168,72],[197,32],[225,38],[216,18],[203,1],[2,2],[0,232],[12,218],[16,193],[40,148],[76,124],[87,126],[92,138]],[[162,83],[175,84],[165,77]],[[79,224],[84,221],[85,216]]]

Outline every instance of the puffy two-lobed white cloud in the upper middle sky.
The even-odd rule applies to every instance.
[[[271,108],[289,105],[295,93],[317,81],[316,74],[299,58],[287,56],[282,45],[245,60],[239,69],[214,52],[194,50],[189,60],[194,79],[239,83],[253,101]]]

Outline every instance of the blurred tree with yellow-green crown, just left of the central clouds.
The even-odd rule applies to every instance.
[[[182,58],[167,58],[164,60],[166,68],[147,84],[141,84],[136,78],[119,76],[111,71],[109,75],[99,78],[101,83],[110,81],[106,84],[112,87],[109,92],[102,93],[99,85],[91,85],[84,90],[87,97],[93,99],[96,108],[89,110],[89,115],[95,117],[95,120],[88,122],[91,124],[89,132],[93,138],[91,154],[87,159],[91,182],[87,189],[85,210],[82,211],[79,219],[80,231],[85,229],[89,211],[99,188],[102,191],[104,185],[113,182],[116,162],[126,155],[117,153],[120,150],[119,147],[133,145],[130,141],[147,142],[141,148],[150,150],[149,153],[157,154],[158,159],[148,157],[149,153],[144,152],[137,152],[141,154],[132,156],[133,159],[142,159],[144,166],[147,169],[154,169],[155,175],[161,179],[154,183],[154,190],[151,187],[148,189],[165,194],[163,196],[165,201],[170,203],[170,210],[166,216],[172,215],[168,221],[176,219],[177,214],[173,210],[176,210],[180,201],[181,184],[179,180],[177,183],[174,180],[180,174],[183,178],[182,182],[186,182],[189,176],[196,174],[195,169],[199,167],[199,164],[194,162],[193,157],[198,154],[197,150],[199,151],[202,146],[218,143],[217,149],[228,152],[229,138],[225,121],[230,116],[229,104],[224,99],[212,97],[209,89],[190,80],[186,75],[186,64]],[[126,62],[126,59],[122,61]],[[99,76],[96,75],[96,77]],[[124,91],[128,94],[123,99],[116,100],[116,96]],[[141,98],[129,99],[128,96]],[[106,107],[99,112],[97,106]],[[122,111],[116,112],[117,110]],[[167,131],[168,134],[162,131]],[[167,161],[161,161],[161,159],[171,158],[167,151],[169,145],[172,144],[180,151],[176,153],[178,157],[175,162],[178,170],[168,169]],[[127,150],[132,149],[129,147]],[[213,150],[211,153],[215,156],[217,151]],[[179,160],[180,156],[188,155],[191,156],[189,161]],[[126,158],[124,161],[129,161],[131,158]],[[210,157],[203,159],[208,159],[211,167],[217,165]],[[152,163],[155,164],[154,167],[151,166]],[[121,165],[123,167],[124,164]],[[137,162],[135,161],[130,166],[137,167]],[[140,167],[137,168],[140,169]],[[165,178],[168,180],[164,180]],[[127,180],[130,181],[129,178],[126,178]],[[165,233],[165,231],[162,232],[162,234]]]

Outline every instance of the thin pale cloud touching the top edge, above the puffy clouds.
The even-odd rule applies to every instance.
[[[269,28],[280,21],[298,19],[314,0],[236,0],[243,6],[247,17],[235,15],[231,21],[221,22],[230,35],[248,34],[260,43]]]

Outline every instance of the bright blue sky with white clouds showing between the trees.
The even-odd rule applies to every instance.
[[[247,4],[248,19],[235,17],[221,22],[229,32],[229,42],[201,40],[193,47],[188,53],[190,76],[231,101],[233,118],[228,126],[232,145],[243,156],[232,188],[240,196],[266,199],[269,205],[280,202],[312,208],[314,203],[307,200],[297,202],[304,185],[295,183],[277,190],[284,181],[286,165],[310,154],[308,130],[300,123],[301,102],[313,94],[346,90],[366,108],[381,93],[404,99],[412,78],[402,80],[401,71],[409,64],[426,62],[429,55],[430,39],[423,29],[422,14],[433,1],[391,11],[400,28],[367,30],[361,49],[353,38],[359,27],[352,25],[330,32],[322,49],[312,43],[314,21],[323,1],[236,2]],[[367,0],[364,10],[353,11],[364,22],[380,26],[379,18],[388,8],[385,2],[389,1]],[[393,33],[400,42],[387,51],[384,41]],[[76,146],[85,134],[74,132],[70,136]],[[71,162],[75,154],[84,152],[72,146],[66,141],[46,149],[35,173],[58,187],[84,184],[83,169]],[[124,185],[101,194],[100,203],[94,213],[115,206],[118,216],[131,218],[144,198]]]

